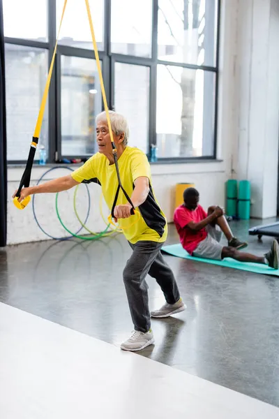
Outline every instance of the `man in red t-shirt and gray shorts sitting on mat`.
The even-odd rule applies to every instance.
[[[183,205],[174,212],[174,223],[179,233],[184,249],[192,256],[222,260],[233,258],[239,262],[264,263],[278,269],[279,245],[273,240],[271,250],[259,257],[239,251],[248,246],[233,236],[222,208],[209,207],[206,214],[199,205],[199,192],[195,188],[188,188],[183,193]],[[228,241],[227,246],[220,244],[222,235]]]

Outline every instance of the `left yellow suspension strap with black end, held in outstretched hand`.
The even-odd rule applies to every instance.
[[[13,203],[15,204],[15,206],[19,210],[24,210],[24,208],[29,204],[29,202],[31,200],[31,197],[27,196],[27,198],[22,200],[22,202],[20,203],[18,201],[18,198],[20,198],[20,193],[22,191],[23,186],[24,186],[24,188],[28,188],[29,184],[30,184],[31,170],[32,170],[32,166],[33,166],[33,161],[34,161],[37,145],[38,145],[38,139],[39,139],[39,136],[40,136],[40,128],[42,127],[42,124],[43,124],[43,115],[44,115],[44,112],[45,112],[45,104],[47,103],[47,94],[48,94],[48,91],[50,89],[50,80],[52,78],[52,70],[53,70],[54,61],[55,61],[57,43],[58,43],[58,39],[59,39],[60,29],[61,29],[61,25],[62,25],[62,22],[63,22],[63,17],[64,17],[66,5],[67,5],[67,0],[64,0],[64,6],[63,6],[63,12],[62,12],[62,16],[61,16],[60,25],[59,25],[59,31],[58,31],[58,34],[57,34],[56,43],[55,43],[55,47],[54,47],[54,52],[53,52],[53,55],[52,55],[52,62],[50,64],[50,71],[47,75],[47,82],[45,83],[45,91],[43,93],[43,98],[42,98],[42,101],[40,103],[40,110],[39,110],[39,114],[38,114],[36,128],[35,128],[35,131],[33,133],[33,139],[32,139],[31,145],[30,145],[29,156],[28,156],[28,159],[27,159],[27,166],[26,166],[26,168],[24,170],[24,173],[22,175],[22,179],[20,181],[20,186],[17,189],[17,194],[16,194],[16,196],[13,200]]]

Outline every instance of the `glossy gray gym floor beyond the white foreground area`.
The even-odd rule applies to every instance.
[[[258,242],[257,236],[248,236],[248,228],[259,223],[230,225],[239,239],[249,241],[250,253],[262,255],[269,250],[271,237]],[[170,225],[168,243],[176,242]],[[7,247],[0,251],[0,302],[119,346],[133,330],[121,277],[129,255],[121,235],[96,242]],[[279,277],[165,258],[187,310],[153,320],[156,344],[138,354],[279,406]],[[149,277],[148,283],[153,309],[164,298],[153,279]]]

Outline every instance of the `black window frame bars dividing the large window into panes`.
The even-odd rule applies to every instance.
[[[216,66],[198,66],[195,64],[185,64],[174,61],[163,61],[158,59],[158,2],[153,1],[152,8],[152,40],[151,40],[151,57],[137,57],[127,54],[116,54],[111,52],[110,34],[111,34],[111,6],[113,0],[104,0],[104,28],[103,28],[103,50],[99,50],[100,61],[102,61],[103,79],[105,91],[107,95],[107,103],[110,109],[114,107],[114,64],[121,62],[124,64],[135,64],[148,66],[150,68],[150,86],[149,86],[149,138],[148,150],[150,152],[151,145],[156,145],[156,84],[157,84],[157,66],[158,64],[168,66],[179,66],[182,68],[192,68],[193,70],[204,70],[215,73],[215,109],[214,109],[214,134],[213,134],[213,155],[199,157],[166,157],[158,158],[156,163],[198,163],[203,161],[216,160],[217,150],[217,124],[218,124],[218,69],[219,69],[219,48],[220,48],[220,7],[221,0],[217,0],[217,27],[216,27]],[[48,39],[43,41],[31,41],[22,38],[5,37],[5,43],[14,45],[23,45],[28,47],[38,47],[49,52],[49,66],[56,42],[56,0],[48,0],[47,7],[48,19]],[[49,133],[49,158],[47,163],[56,163],[61,159],[88,158],[88,156],[65,156],[61,154],[61,55],[72,57],[81,57],[95,59],[92,50],[73,47],[68,45],[58,45],[54,71],[52,74],[52,82],[48,97],[48,133]],[[103,104],[103,101],[102,101]],[[104,109],[103,105],[102,108]],[[30,135],[31,136],[31,135]],[[8,139],[7,139],[8,140]],[[31,140],[31,138],[30,138]],[[27,144],[27,154],[28,154]],[[38,162],[38,154],[35,157],[35,163]],[[26,160],[8,160],[8,164],[24,164]]]

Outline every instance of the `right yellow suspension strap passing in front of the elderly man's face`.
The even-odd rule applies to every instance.
[[[96,43],[96,36],[95,36],[95,33],[94,33],[94,29],[93,29],[93,22],[92,22],[92,17],[91,17],[89,0],[85,0],[85,3],[86,3],[87,15],[88,15],[89,25],[90,25],[90,30],[91,30],[93,48],[94,48],[95,57],[96,57],[96,64],[97,64],[98,74],[99,74],[99,78],[100,78],[100,88],[101,88],[102,96],[103,96],[103,102],[104,102],[104,107],[105,107],[105,114],[107,116],[107,126],[109,128],[110,140],[112,142],[112,154],[114,156],[114,164],[115,164],[116,175],[117,175],[117,179],[118,179],[118,187],[117,187],[117,191],[116,191],[116,196],[114,198],[114,203],[112,205],[112,212],[111,212],[111,214],[109,216],[109,221],[110,221],[110,223],[112,223],[112,218],[114,217],[114,208],[116,207],[116,201],[117,201],[117,198],[119,196],[120,189],[123,191],[123,194],[125,195],[126,199],[128,200],[128,203],[130,205],[132,205],[132,208],[130,210],[130,214],[131,215],[135,214],[135,207],[134,207],[132,201],[130,200],[130,197],[128,196],[128,193],[125,191],[125,189],[123,188],[122,183],[121,183],[121,178],[120,178],[120,174],[119,174],[119,166],[118,166],[118,161],[117,161],[117,150],[116,150],[116,147],[115,147],[115,144],[114,144],[113,135],[112,135],[112,125],[110,123],[110,113],[109,113],[109,108],[107,106],[107,96],[105,94],[105,86],[104,86],[104,82],[103,82],[103,74],[102,74],[102,70],[100,68],[100,59],[99,59],[98,47],[97,47],[97,43]],[[140,218],[140,213],[139,212],[137,212],[137,215]],[[130,228],[130,226],[129,226],[129,228]]]

